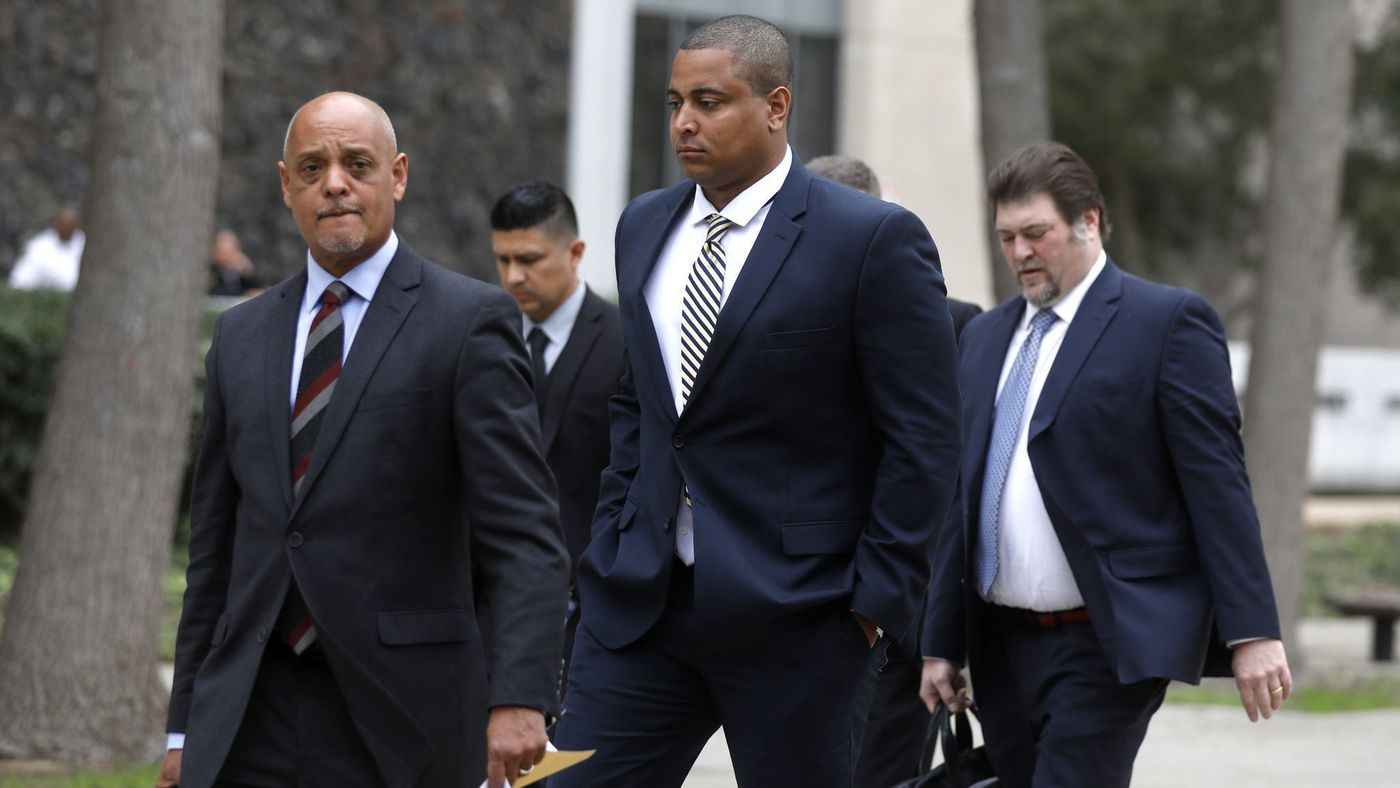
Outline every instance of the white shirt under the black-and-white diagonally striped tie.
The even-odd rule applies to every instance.
[[[734,223],[720,242],[724,246],[724,291],[720,294],[721,321],[724,319],[724,305],[729,301],[734,283],[743,270],[743,263],[749,259],[753,242],[763,230],[763,221],[769,217],[773,197],[787,181],[788,171],[792,169],[792,148],[783,153],[783,161],[771,172],[760,178],[755,185],[739,193],[722,211],[715,211],[714,204],[706,199],[704,190],[696,186],[694,200],[690,203],[690,213],[676,224],[661,248],[657,267],[651,272],[644,290],[647,308],[651,309],[652,326],[657,329],[657,342],[661,344],[661,357],[666,364],[666,379],[671,381],[671,393],[675,396],[676,413],[685,407],[685,395],[680,386],[680,309],[685,301],[686,279],[690,269],[700,256],[708,234],[710,214],[720,213]],[[700,363],[704,367],[704,361]],[[676,554],[686,564],[694,564],[694,515],[685,500],[676,512]]]

